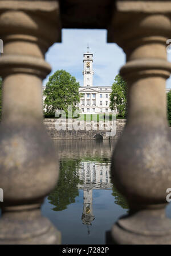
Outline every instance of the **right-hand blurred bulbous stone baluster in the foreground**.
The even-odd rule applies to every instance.
[[[171,186],[171,144],[166,117],[165,80],[171,64],[166,40],[171,35],[168,1],[116,1],[108,41],[127,54],[120,70],[128,85],[128,118],[112,156],[112,180],[130,211],[112,227],[120,244],[171,243],[165,216]]]

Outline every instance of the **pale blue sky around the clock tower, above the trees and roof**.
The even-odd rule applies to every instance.
[[[93,85],[112,85],[125,63],[125,53],[116,44],[107,43],[107,30],[63,29],[62,43],[52,45],[46,53],[46,60],[52,67],[51,74],[64,69],[83,85],[83,53],[87,52],[87,44],[89,52],[93,53]],[[168,60],[171,62],[171,53],[168,54]],[[47,81],[48,76],[43,85]],[[171,78],[166,87],[171,87]]]

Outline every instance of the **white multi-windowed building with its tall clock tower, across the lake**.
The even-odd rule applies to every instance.
[[[87,50],[83,59],[84,84],[79,88],[79,92],[83,95],[78,104],[80,113],[112,112],[109,108],[112,86],[93,86],[93,74],[93,54]]]

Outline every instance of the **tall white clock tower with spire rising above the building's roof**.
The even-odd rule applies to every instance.
[[[84,86],[85,87],[91,87],[93,86],[93,59],[92,53],[88,52],[89,47],[87,46],[87,53],[84,53],[84,70],[83,70],[83,76],[84,76]]]

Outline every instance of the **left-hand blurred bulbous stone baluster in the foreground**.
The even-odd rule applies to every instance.
[[[40,214],[58,179],[58,159],[43,126],[44,53],[60,41],[58,1],[0,1],[3,116],[0,128],[0,244],[58,244]]]

